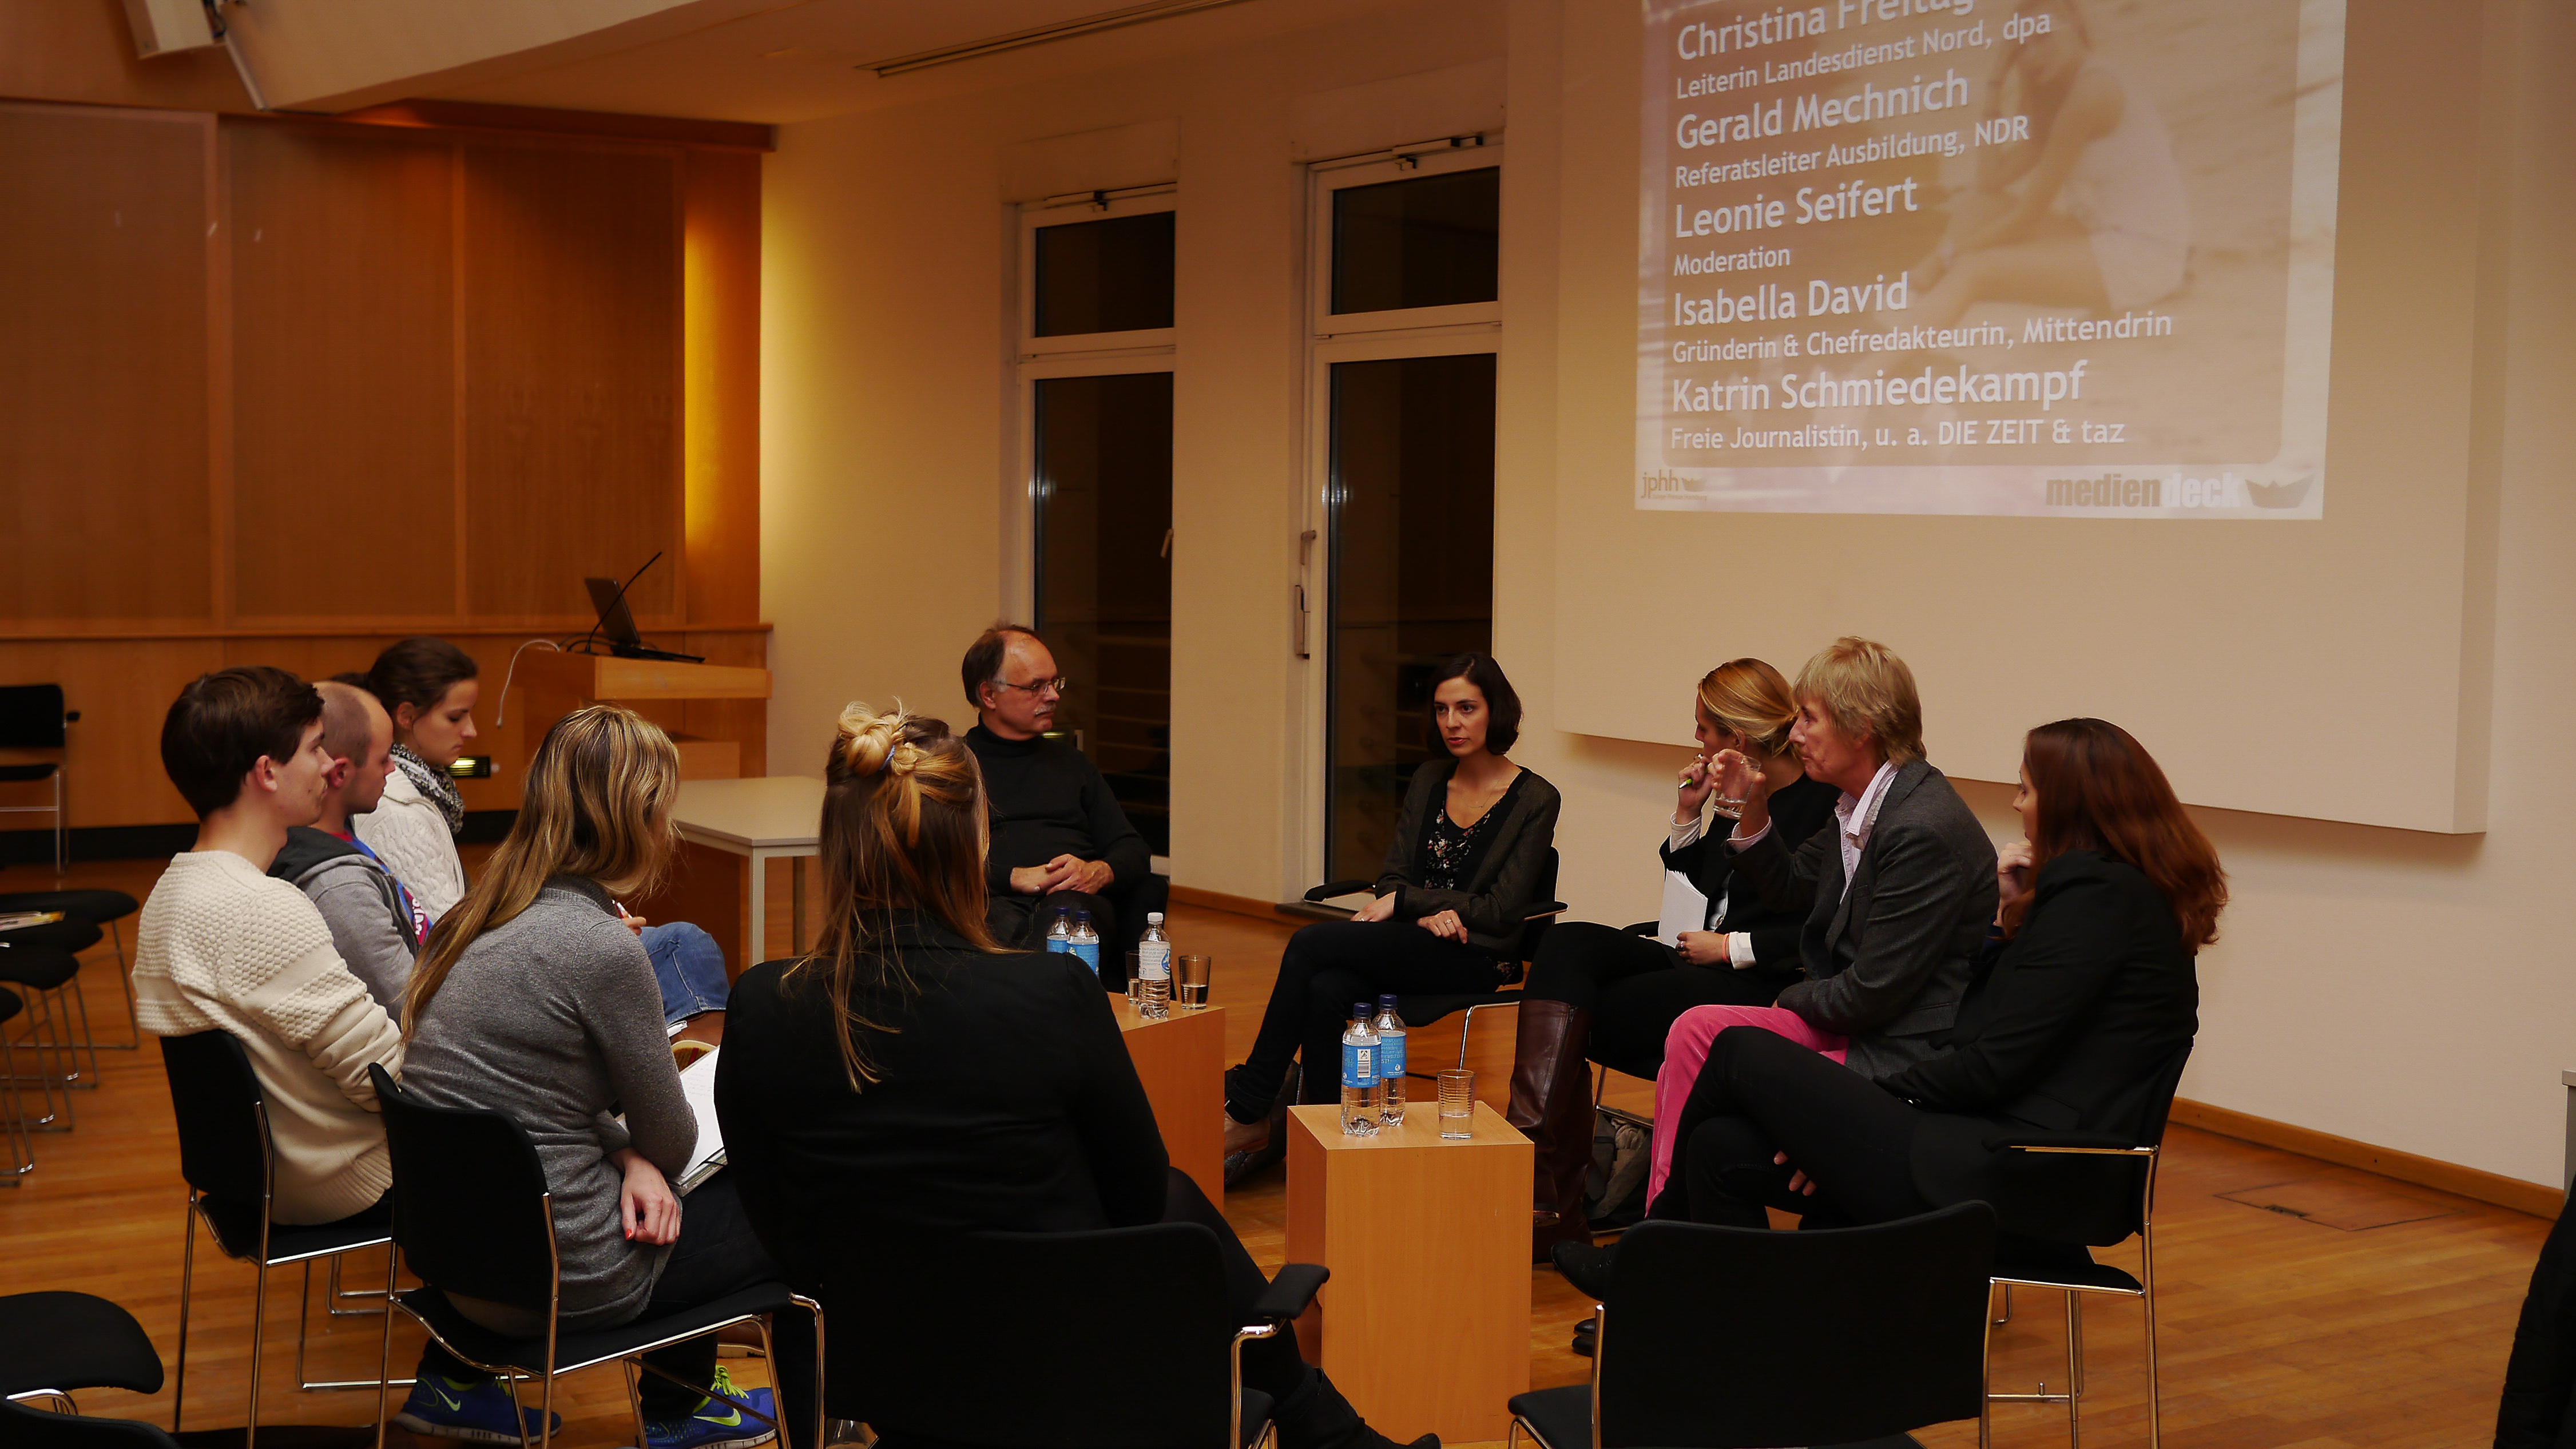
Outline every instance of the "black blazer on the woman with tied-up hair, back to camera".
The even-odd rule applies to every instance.
[[[1069,955],[899,932],[920,983],[850,1091],[822,983],[742,973],[716,1117],[742,1207],[801,1289],[850,1233],[1074,1233],[1162,1220],[1170,1158],[1100,981]]]

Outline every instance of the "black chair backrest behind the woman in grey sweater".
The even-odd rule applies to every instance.
[[[546,1166],[502,1112],[430,1107],[366,1068],[394,1158],[394,1243],[420,1282],[536,1313],[554,1297]]]

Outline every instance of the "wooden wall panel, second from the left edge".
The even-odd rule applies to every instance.
[[[224,121],[234,618],[456,613],[453,144]]]

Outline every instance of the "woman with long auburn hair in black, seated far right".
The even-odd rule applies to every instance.
[[[2146,1132],[2192,1048],[2192,957],[2218,939],[2226,872],[2164,770],[2105,721],[2030,731],[2012,806],[2030,839],[1999,857],[2004,906],[1947,1048],[1868,1081],[1765,1029],[1718,1032],[1656,1217],[1886,1223],[1984,1199],[2007,1233],[2081,1243],[2102,1197],[2133,1192],[2117,1163],[2030,1176],[1986,1143]],[[1602,1253],[1556,1261],[1587,1284]]]

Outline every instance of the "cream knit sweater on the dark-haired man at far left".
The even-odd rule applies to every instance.
[[[219,1027],[250,1050],[278,1223],[332,1223],[394,1184],[366,1066],[399,1076],[402,1029],[286,880],[229,849],[170,857],[134,927],[134,1014],[160,1037]]]

